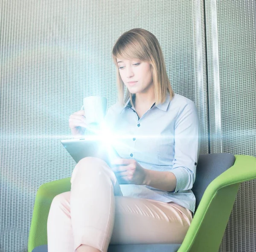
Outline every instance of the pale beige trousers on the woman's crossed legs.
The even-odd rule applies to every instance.
[[[83,158],[71,176],[71,191],[52,200],[47,221],[48,252],[75,252],[89,245],[182,243],[192,212],[176,203],[124,197],[111,168]]]

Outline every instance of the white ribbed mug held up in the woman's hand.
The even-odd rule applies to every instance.
[[[83,100],[84,116],[88,124],[100,124],[106,115],[107,98],[102,96],[87,96]]]

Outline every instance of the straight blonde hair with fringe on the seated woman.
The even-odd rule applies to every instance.
[[[125,84],[119,74],[116,58],[139,59],[151,64],[156,105],[166,100],[166,92],[169,92],[170,100],[172,100],[174,92],[166,72],[163,52],[154,34],[140,28],[126,31],[118,38],[113,46],[112,57],[116,65],[117,89],[120,104],[125,105],[130,97],[131,103],[134,105],[132,94],[127,88],[124,98]]]

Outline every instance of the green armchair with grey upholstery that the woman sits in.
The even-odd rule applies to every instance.
[[[199,155],[192,191],[196,211],[182,244],[110,245],[108,252],[217,252],[240,183],[256,178],[256,158],[214,153]],[[28,252],[47,252],[47,217],[55,195],[70,191],[70,178],[38,189],[29,232]]]

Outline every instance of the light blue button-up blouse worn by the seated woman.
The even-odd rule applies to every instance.
[[[172,172],[177,179],[174,192],[151,186],[121,184],[124,196],[173,201],[195,212],[192,186],[200,149],[200,123],[195,103],[175,94],[163,104],[148,109],[139,118],[130,99],[125,106],[112,105],[105,116],[112,145],[121,158],[135,159],[143,168]]]

